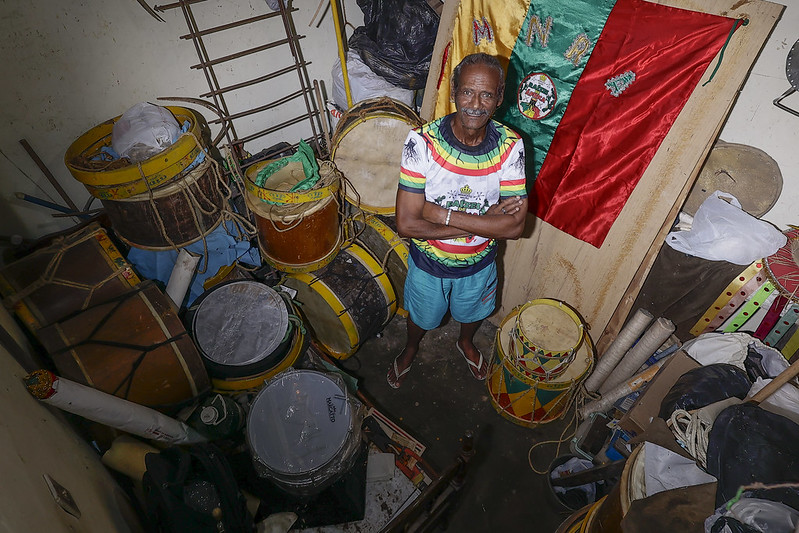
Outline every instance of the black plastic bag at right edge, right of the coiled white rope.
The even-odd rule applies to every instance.
[[[716,506],[732,499],[738,488],[799,480],[799,425],[748,402],[723,410],[713,422],[707,446],[707,471],[718,479]],[[764,491],[765,492],[765,491]],[[756,497],[799,509],[795,490],[772,489]]]

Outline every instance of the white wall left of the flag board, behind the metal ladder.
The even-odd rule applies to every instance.
[[[152,6],[156,2],[148,0],[148,3]],[[293,16],[297,32],[306,35],[300,46],[305,60],[312,63],[308,74],[312,80],[324,81],[329,94],[330,68],[338,52],[329,9],[319,28],[316,28],[319,15],[313,26],[308,25],[317,5],[316,0],[297,0],[294,6],[299,11]],[[328,5],[325,0],[320,14]],[[354,26],[363,23],[363,14],[354,0],[346,0],[344,8]],[[271,10],[264,0],[209,0],[194,6],[200,27],[267,11]],[[166,23],[152,18],[134,0],[0,2],[0,150],[7,156],[0,155],[0,236],[20,234],[33,238],[73,223],[70,219],[53,218],[52,211],[15,198],[17,191],[47,198],[44,189],[57,203],[63,204],[20,146],[20,139],[28,140],[75,203],[82,207],[89,195],[63,162],[64,152],[77,137],[137,102],[155,101],[159,96],[197,97],[208,90],[202,72],[189,68],[198,62],[192,42],[178,38],[187,33],[180,10],[168,11],[162,17]],[[351,32],[349,28],[348,35]],[[247,29],[208,37],[206,43],[214,58],[284,36],[278,17]],[[291,63],[288,47],[281,46],[221,65],[217,73],[220,82],[227,85]],[[263,94],[250,95],[243,102],[231,95],[227,100],[230,111],[263,105],[299,89],[293,74],[270,83],[284,83],[290,88],[266,85]],[[214,118],[213,113],[197,106],[171,105],[192,107],[201,110],[207,119]],[[256,115],[238,133],[244,136],[248,131],[266,129],[284,116],[298,115],[301,107],[304,108],[302,101],[295,100],[281,108],[282,113]],[[303,124],[286,130],[284,136],[253,141],[246,148],[254,153],[282,140],[293,143],[308,135],[310,130]]]

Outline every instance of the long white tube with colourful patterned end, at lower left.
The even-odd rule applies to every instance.
[[[28,374],[25,386],[44,403],[146,439],[170,444],[195,444],[207,440],[183,422],[155,409],[60,378],[49,370]]]

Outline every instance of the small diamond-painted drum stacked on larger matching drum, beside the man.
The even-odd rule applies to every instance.
[[[565,415],[594,364],[578,314],[542,298],[514,309],[497,330],[486,384],[494,408],[525,427]]]

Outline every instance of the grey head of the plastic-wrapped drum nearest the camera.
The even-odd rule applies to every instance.
[[[278,375],[258,393],[247,416],[254,458],[280,475],[311,474],[332,461],[353,429],[346,391],[322,372]]]

